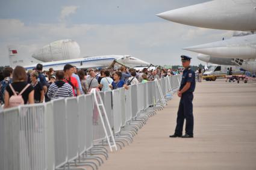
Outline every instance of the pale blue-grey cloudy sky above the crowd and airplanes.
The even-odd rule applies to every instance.
[[[207,0],[8,0],[0,1],[0,65],[9,65],[10,44],[24,57],[55,40],[72,39],[81,57],[133,55],[152,64],[204,64],[183,47],[231,37],[230,31],[196,28],[161,19],[155,14]]]

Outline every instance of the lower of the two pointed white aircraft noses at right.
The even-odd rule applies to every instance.
[[[256,34],[233,37],[229,40],[216,41],[184,49],[203,53],[215,61],[223,60],[221,58],[231,59],[234,64],[239,65],[244,70],[256,71]],[[199,56],[198,58],[202,60],[207,57]]]

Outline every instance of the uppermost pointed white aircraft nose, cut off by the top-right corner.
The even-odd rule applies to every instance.
[[[184,25],[234,31],[256,30],[255,0],[215,0],[157,16]]]

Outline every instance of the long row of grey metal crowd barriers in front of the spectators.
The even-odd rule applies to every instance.
[[[116,135],[127,126],[137,129],[148,118],[149,107],[160,105],[161,96],[178,90],[180,81],[181,75],[169,76],[158,80],[160,87],[152,81],[131,85],[128,90],[100,92],[107,115],[102,114],[103,123],[108,118]],[[104,145],[107,136],[111,137],[104,132],[93,94],[5,109],[0,112],[0,169],[78,166],[74,162],[81,163],[84,153]]]

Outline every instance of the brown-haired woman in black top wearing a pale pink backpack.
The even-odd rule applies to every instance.
[[[13,83],[5,88],[4,101],[4,108],[34,103],[34,89],[27,83],[27,74],[23,67],[14,68]]]

